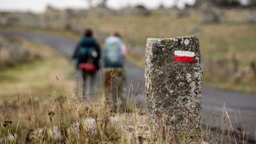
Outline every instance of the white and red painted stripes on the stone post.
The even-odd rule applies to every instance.
[[[192,63],[196,62],[194,56],[194,52],[190,51],[182,51],[182,50],[175,50],[174,51],[174,60],[176,62],[187,62],[187,63]]]

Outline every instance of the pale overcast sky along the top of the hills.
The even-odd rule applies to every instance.
[[[93,0],[96,4],[99,0]],[[165,7],[174,5],[178,1],[178,7],[183,8],[184,4],[194,4],[195,0],[108,0],[108,7],[118,9],[127,5],[136,6],[143,4],[147,8],[158,8],[160,4]],[[56,8],[88,8],[86,0],[0,0],[0,11],[30,11],[44,12],[45,7],[50,4]]]

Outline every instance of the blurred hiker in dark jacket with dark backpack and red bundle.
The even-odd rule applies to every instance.
[[[96,70],[100,68],[100,47],[92,37],[92,30],[86,28],[84,35],[78,42],[73,58],[76,58],[78,70],[78,90],[82,88],[82,96],[94,92],[94,80]],[[81,92],[81,91],[80,91]]]

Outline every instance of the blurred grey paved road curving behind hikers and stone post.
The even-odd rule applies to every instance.
[[[64,37],[49,36],[45,34],[35,34],[31,32],[22,31],[12,31],[12,30],[2,30],[1,33],[9,34],[14,36],[22,36],[23,38],[28,38],[30,40],[36,40],[44,42],[56,50],[62,52],[68,58],[71,57],[74,50],[76,42]],[[141,83],[140,95],[138,101],[142,101],[142,105],[145,107],[145,98],[142,96],[144,89],[144,70],[138,68],[132,64],[126,64],[127,79],[132,81],[133,92],[136,91],[138,82]],[[100,80],[98,80],[100,83]],[[218,113],[219,117],[215,118],[214,122],[219,122],[221,120],[221,114],[223,110],[223,104],[226,103],[227,111],[230,115],[232,122],[239,122],[240,116],[238,114],[238,109],[243,122],[246,122],[246,132],[255,134],[256,128],[256,95],[245,94],[240,92],[232,92],[228,90],[218,90],[213,88],[202,88],[202,118],[205,118],[203,122],[209,124],[211,122],[211,104],[217,104],[215,112]],[[216,116],[216,114],[215,114]],[[217,120],[218,119],[218,120]],[[215,125],[215,123],[213,124]],[[234,126],[234,125],[233,125]]]

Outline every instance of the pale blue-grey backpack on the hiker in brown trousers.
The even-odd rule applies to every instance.
[[[122,40],[118,37],[109,37],[105,41],[104,62],[105,67],[122,67]]]

